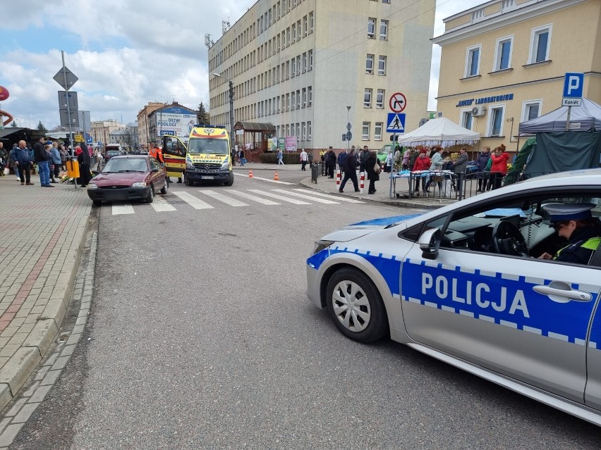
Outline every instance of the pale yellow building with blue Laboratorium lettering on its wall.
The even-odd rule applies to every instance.
[[[600,20],[601,0],[492,0],[445,19],[437,110],[480,148],[516,151],[520,122],[561,107],[566,73],[601,103]]]

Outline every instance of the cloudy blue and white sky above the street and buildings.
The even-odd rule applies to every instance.
[[[0,104],[18,125],[59,125],[52,79],[65,65],[79,78],[79,109],[92,120],[135,120],[148,101],[209,103],[205,34],[221,36],[221,20],[236,22],[256,0],[19,0],[3,1]],[[485,0],[437,0],[442,19]],[[392,0],[394,6],[394,0]],[[211,6],[207,8],[207,6]],[[440,51],[435,45],[428,109],[435,111]]]

